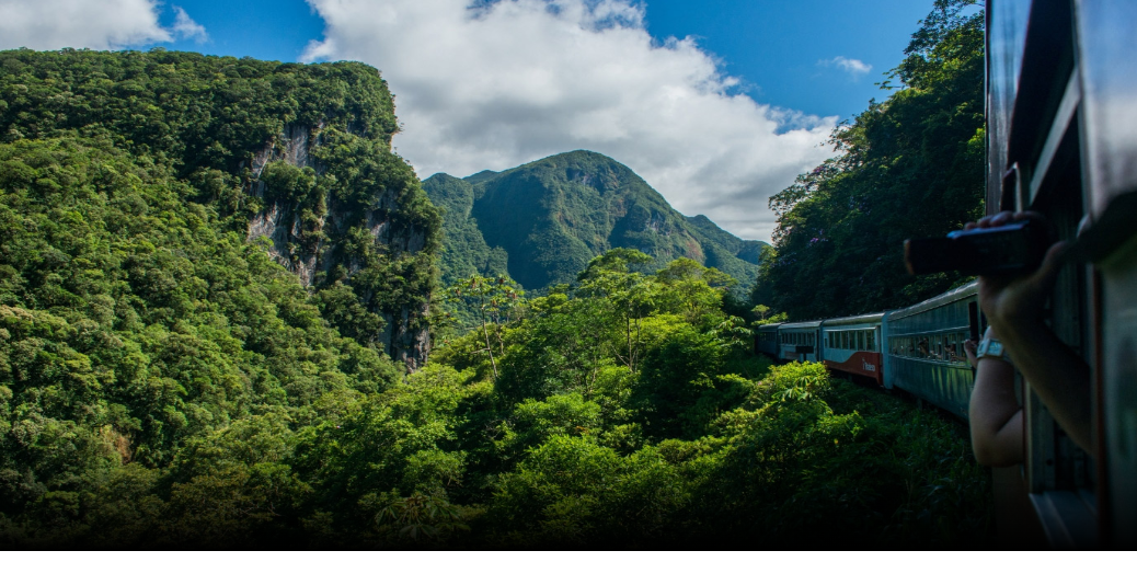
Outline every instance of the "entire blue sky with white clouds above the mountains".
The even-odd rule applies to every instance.
[[[933,0],[0,0],[0,49],[192,50],[383,73],[425,179],[587,149],[770,241],[770,196],[887,97]]]

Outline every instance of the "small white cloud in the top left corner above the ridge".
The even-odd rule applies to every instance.
[[[0,49],[121,49],[205,36],[176,8],[173,28],[158,23],[158,0],[0,0]]]

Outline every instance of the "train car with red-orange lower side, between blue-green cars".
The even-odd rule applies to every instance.
[[[832,371],[865,377],[883,386],[883,317],[885,313],[877,313],[822,322],[822,363]]]

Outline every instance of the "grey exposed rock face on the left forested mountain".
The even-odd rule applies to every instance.
[[[385,295],[377,294],[383,289],[366,282],[373,281],[366,278],[374,278],[376,273],[392,273],[373,271],[376,264],[372,258],[377,257],[384,264],[400,261],[420,264],[416,256],[433,250],[431,240],[437,235],[437,224],[400,220],[406,215],[406,209],[401,208],[404,199],[408,195],[409,199],[415,198],[406,191],[416,190],[416,182],[383,184],[366,193],[367,204],[359,207],[358,200],[345,200],[337,192],[318,192],[323,201],[317,200],[315,205],[310,198],[285,197],[279,190],[273,192],[272,180],[264,177],[266,168],[284,164],[308,175],[316,184],[324,182],[329,166],[313,155],[321,151],[325,126],[323,122],[313,127],[287,125],[282,134],[254,154],[248,195],[260,199],[264,206],[249,220],[248,239],[267,239],[266,249],[273,259],[313,291],[337,281],[355,288],[370,312],[383,320],[380,333],[365,337],[382,346],[391,358],[416,370],[430,353],[425,323],[430,312],[429,294],[420,296],[426,298],[390,303],[383,298]],[[346,245],[360,242],[360,246],[346,248]],[[368,251],[376,255],[368,255]],[[333,271],[335,268],[339,271]]]

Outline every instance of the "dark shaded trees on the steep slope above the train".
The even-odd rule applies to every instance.
[[[965,11],[974,3],[937,0],[889,74],[897,84],[885,83],[891,97],[833,130],[840,155],[770,199],[779,223],[755,303],[832,317],[908,306],[963,280],[908,275],[903,242],[984,214],[984,14]]]

